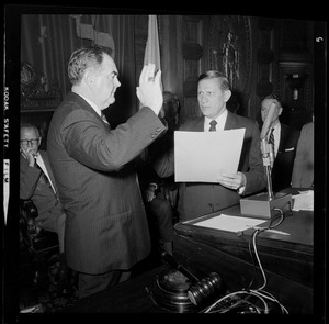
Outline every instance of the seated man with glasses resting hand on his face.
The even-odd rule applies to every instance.
[[[37,208],[36,223],[39,228],[58,234],[60,269],[56,280],[64,293],[71,291],[68,268],[64,256],[65,213],[58,199],[58,189],[38,129],[33,124],[21,125],[20,146],[20,199],[31,199]]]

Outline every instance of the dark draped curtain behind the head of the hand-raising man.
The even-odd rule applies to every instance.
[[[87,31],[84,35],[82,30]],[[122,86],[116,91],[115,103],[105,113],[111,113],[117,124],[137,109],[133,15],[24,14],[21,16],[21,62],[32,64],[47,80],[57,79],[65,97],[71,87],[67,76],[69,57],[75,49],[94,44],[94,38],[89,36],[95,33],[110,35],[114,43],[111,53]]]

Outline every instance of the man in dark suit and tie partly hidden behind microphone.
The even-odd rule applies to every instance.
[[[274,94],[266,96],[261,102],[262,121],[265,121],[269,109],[273,103],[275,104],[275,111],[269,129],[268,141],[269,143],[271,142],[270,136],[272,133],[274,141],[274,160],[271,178],[273,191],[277,192],[291,187],[299,131],[280,122],[280,115],[283,108],[280,100]]]

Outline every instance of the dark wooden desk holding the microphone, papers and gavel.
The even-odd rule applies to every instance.
[[[240,215],[239,205],[223,210],[222,213]],[[248,249],[253,230],[238,236],[236,233],[195,226],[195,222],[175,225],[174,259],[200,278],[212,271],[217,272],[230,292],[248,287],[254,272]],[[268,278],[264,290],[272,293],[290,313],[311,314],[313,212],[294,212],[276,228],[291,235],[264,232],[257,237],[259,257]],[[63,312],[170,313],[157,305],[151,295],[155,278],[169,268],[169,265],[160,266],[84,298]],[[262,283],[258,270],[251,288]]]

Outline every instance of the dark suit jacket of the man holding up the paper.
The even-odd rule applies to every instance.
[[[260,150],[259,125],[256,121],[228,111],[225,130],[234,129],[246,129],[238,170],[245,172],[247,178],[247,186],[243,194],[250,195],[251,193],[263,190],[266,186]],[[186,121],[180,127],[180,131],[203,132],[204,116]],[[160,177],[168,177],[173,174],[173,150],[157,160],[155,163],[155,169]],[[239,203],[239,200],[240,195],[237,190],[231,190],[220,185],[181,182],[178,202],[180,220],[193,220]]]

